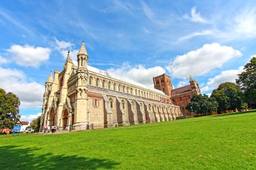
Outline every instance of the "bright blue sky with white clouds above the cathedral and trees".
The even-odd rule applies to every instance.
[[[89,65],[152,86],[197,80],[209,94],[255,55],[256,1],[0,1],[0,88],[40,115],[44,82],[86,41]]]

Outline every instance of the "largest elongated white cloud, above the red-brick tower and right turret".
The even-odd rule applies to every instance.
[[[173,77],[178,78],[204,75],[241,55],[240,51],[230,46],[220,46],[218,43],[204,44],[202,48],[177,56],[166,69]]]

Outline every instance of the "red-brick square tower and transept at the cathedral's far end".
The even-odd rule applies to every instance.
[[[195,79],[189,77],[189,85],[173,89],[172,81],[166,74],[153,78],[155,89],[163,91],[166,95],[170,96],[174,105],[179,105],[183,115],[191,116],[191,113],[185,108],[189,104],[193,95],[201,94],[199,85]]]

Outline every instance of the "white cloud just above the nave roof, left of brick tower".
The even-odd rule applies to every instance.
[[[150,87],[154,87],[153,77],[165,73],[165,70],[159,66],[146,68],[143,65],[135,65],[135,67],[131,67],[128,62],[124,62],[122,67],[117,69],[111,68],[107,71]]]

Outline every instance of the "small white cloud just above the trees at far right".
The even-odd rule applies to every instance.
[[[235,83],[237,79],[237,75],[243,71],[243,67],[239,67],[237,70],[228,70],[222,71],[220,75],[216,75],[216,77],[209,79],[207,85],[216,89],[220,83],[232,82]]]

